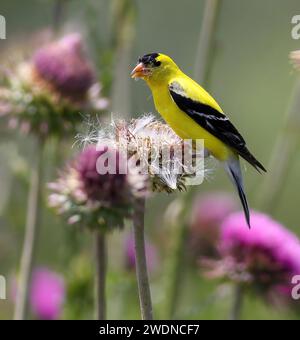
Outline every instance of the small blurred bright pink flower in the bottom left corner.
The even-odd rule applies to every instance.
[[[59,318],[65,298],[63,278],[47,268],[36,269],[32,276],[30,304],[32,312],[39,318]]]

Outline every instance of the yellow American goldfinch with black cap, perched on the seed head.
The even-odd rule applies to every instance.
[[[224,165],[237,188],[250,227],[239,157],[244,158],[259,172],[266,170],[250,153],[244,138],[219,104],[199,84],[184,74],[170,57],[161,53],[146,54],[139,58],[131,77],[146,81],[157,111],[179,137],[203,139],[206,151]]]

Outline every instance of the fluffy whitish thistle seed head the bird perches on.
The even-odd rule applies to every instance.
[[[149,176],[156,192],[182,191],[191,178],[198,176],[198,183],[204,179],[204,162],[195,165],[194,161],[204,156],[204,150],[195,150],[192,143],[189,145],[152,114],[129,122],[112,118],[108,129],[95,129],[90,124],[87,136],[78,138],[84,144],[91,140],[99,147],[109,144],[118,149]]]

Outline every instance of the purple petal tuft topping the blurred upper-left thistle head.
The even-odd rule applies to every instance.
[[[95,79],[76,33],[42,47],[35,53],[33,65],[41,78],[76,101],[86,95]]]

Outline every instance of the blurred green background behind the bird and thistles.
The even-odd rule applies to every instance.
[[[64,30],[82,32],[95,63],[99,46],[90,32],[96,32],[101,39],[105,39],[109,34],[109,2],[66,1]],[[138,0],[136,3],[137,21],[130,60],[129,64],[125,65],[126,69],[120,73],[122,86],[118,86],[114,94],[116,99],[113,107],[117,109],[115,114],[118,116],[128,113],[138,116],[144,112],[154,112],[146,85],[129,78],[129,71],[138,56],[149,52],[163,52],[172,56],[187,74],[193,76],[194,72],[204,1]],[[0,0],[0,14],[4,15],[7,21],[7,40],[0,40],[0,62],[5,62],[3,58],[9,57],[4,54],[8,47],[14,43],[26,46],[33,33],[50,26],[52,13],[51,0]],[[300,46],[300,41],[291,37],[291,18],[296,14],[300,14],[298,0],[224,0],[218,18],[209,90],[244,135],[250,149],[265,165],[282,126],[297,77],[288,59],[289,52]],[[122,54],[118,56],[120,63],[122,57]],[[101,74],[101,69],[99,73]],[[0,124],[0,274],[11,277],[19,266],[22,247],[32,140],[11,133]],[[44,160],[48,181],[55,178],[56,168],[63,164],[63,159],[69,159],[76,151],[71,149],[71,145],[72,141],[65,145],[60,159],[55,155],[54,143],[48,145]],[[299,156],[300,152],[295,155],[285,190],[275,212],[279,221],[298,234]],[[250,167],[246,169],[245,183],[253,208],[256,207],[256,197],[263,180],[264,176],[258,175]],[[198,187],[197,192],[213,189],[233,191],[222,169],[217,169],[213,178]],[[172,233],[172,230],[164,228],[162,220],[166,206],[173,199],[174,195],[161,194],[155,195],[148,202],[147,234],[158,246],[167,242],[169,233]],[[79,232],[74,235],[71,227],[65,227],[61,219],[47,209],[46,199],[42,223],[38,263],[67,276],[72,261],[79,253],[86,252],[89,258],[89,236]],[[127,292],[128,287],[133,285],[135,293],[134,280],[125,272],[120,274],[123,255],[119,245],[122,237],[122,234],[114,234],[110,240],[111,269],[108,286],[112,302],[109,305],[108,317],[139,318],[136,294]],[[167,256],[162,250],[161,258],[164,258],[164,255]],[[92,268],[91,261],[87,260],[87,266]],[[164,295],[161,285],[163,276],[161,264],[158,274],[152,278],[157,310]],[[185,293],[178,311],[179,318],[227,317],[228,301],[226,298],[221,303],[207,301],[215,287],[211,283],[203,282],[195,268],[186,273],[185,285]],[[124,295],[124,292],[128,301],[125,301],[125,306],[121,308],[118,298]],[[11,315],[11,299],[0,301],[0,319],[11,318]],[[88,318],[90,314],[87,311],[77,317]],[[294,316],[285,311],[273,310],[255,299],[249,299],[244,317],[268,319]]]

